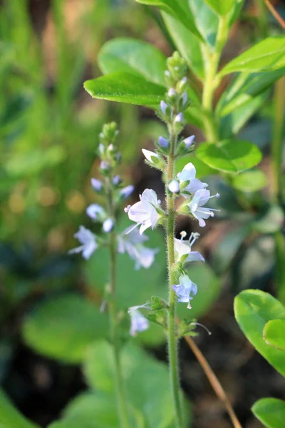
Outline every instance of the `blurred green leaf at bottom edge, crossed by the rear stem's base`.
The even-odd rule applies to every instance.
[[[129,409],[132,427],[145,428],[142,415]],[[115,394],[83,392],[64,409],[63,419],[49,428],[114,428],[119,427]]]

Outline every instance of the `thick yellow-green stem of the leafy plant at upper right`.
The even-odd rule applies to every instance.
[[[219,140],[217,123],[214,118],[213,98],[214,91],[219,81],[217,80],[217,71],[219,60],[222,55],[224,44],[226,44],[229,26],[227,16],[221,16],[217,31],[217,40],[214,51],[211,53],[207,46],[204,46],[204,56],[206,58],[206,78],[202,94],[202,106],[204,108],[204,132],[207,141],[216,143]]]

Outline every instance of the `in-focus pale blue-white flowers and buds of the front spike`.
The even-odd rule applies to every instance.
[[[171,195],[172,200],[180,196],[182,203],[175,210],[174,215],[188,215],[198,220],[199,226],[204,228],[205,220],[214,217],[216,210],[207,207],[211,198],[219,198],[219,193],[210,195],[207,189],[208,184],[199,180],[196,175],[195,165],[187,163],[180,173],[175,175],[173,163],[177,158],[185,156],[195,150],[194,136],[182,138],[180,133],[184,127],[184,115],[190,104],[187,90],[185,62],[175,53],[167,60],[167,71],[165,71],[165,81],[168,91],[165,100],[160,102],[157,115],[167,125],[169,137],[160,136],[155,143],[156,150],[149,151],[142,149],[146,163],[154,168],[167,172],[165,181],[166,193]],[[171,159],[171,161],[170,161]],[[170,164],[170,162],[172,164]],[[168,171],[172,168],[171,177]],[[166,174],[165,174],[166,175]],[[157,225],[167,225],[169,213],[161,208],[161,202],[157,194],[152,189],[145,189],[140,195],[139,202],[128,205],[125,208],[130,220],[135,222],[133,229],[139,227],[139,233],[145,232],[147,228],[154,229]],[[190,280],[185,270],[185,265],[190,262],[202,261],[204,258],[197,251],[192,251],[195,240],[199,233],[192,233],[189,240],[185,240],[186,232],[182,233],[181,240],[174,238],[175,263],[170,269],[175,270],[177,283],[172,284],[172,290],[177,295],[178,302],[187,303],[191,308],[190,300],[197,294],[197,285]],[[168,251],[170,249],[168,248]],[[143,322],[142,315],[138,312],[138,307],[132,315],[132,331],[143,331],[147,328],[147,322]],[[137,323],[135,325],[135,323]]]

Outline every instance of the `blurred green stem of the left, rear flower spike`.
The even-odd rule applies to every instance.
[[[106,178],[107,200],[108,200],[108,215],[110,218],[115,217],[114,203],[113,203],[113,188],[110,180]],[[114,356],[114,375],[115,375],[115,391],[118,402],[118,413],[121,428],[130,428],[128,419],[128,407],[125,397],[125,389],[123,387],[123,374],[120,364],[120,340],[118,331],[118,317],[116,307],[116,265],[117,265],[117,248],[116,248],[116,234],[115,230],[109,233],[109,253],[110,253],[110,290],[108,309],[109,309],[109,322],[110,322],[110,339],[113,345]]]

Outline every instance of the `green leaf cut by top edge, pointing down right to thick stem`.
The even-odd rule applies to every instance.
[[[147,4],[149,6],[158,6],[162,11],[167,12],[180,21],[185,27],[195,34],[199,39],[201,35],[197,30],[195,19],[190,10],[187,0],[136,0],[138,3]]]

